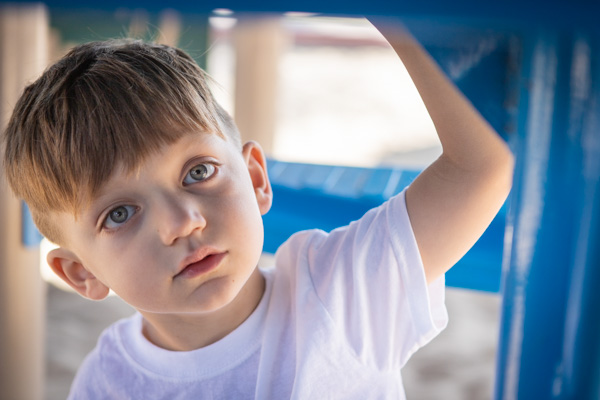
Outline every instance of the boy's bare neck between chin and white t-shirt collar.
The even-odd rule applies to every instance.
[[[191,351],[215,343],[240,326],[260,303],[265,279],[256,268],[235,299],[207,314],[148,314],[142,332],[153,344],[167,350]]]

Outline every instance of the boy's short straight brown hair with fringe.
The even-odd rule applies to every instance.
[[[240,145],[189,55],[138,40],[87,43],[25,89],[4,135],[6,176],[41,233],[59,242],[49,211],[76,213],[116,165],[133,170],[195,132]]]

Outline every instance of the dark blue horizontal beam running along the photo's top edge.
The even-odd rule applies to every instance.
[[[47,0],[44,2],[54,9],[117,10],[123,8],[141,8],[148,11],[160,11],[173,8],[184,13],[207,13],[216,8],[227,8],[237,12],[287,12],[302,11],[338,15],[395,15],[411,18],[448,20],[465,25],[486,21],[488,24],[520,22],[531,24],[534,21],[552,25],[596,26],[600,4],[593,0],[505,0],[476,1],[455,0],[371,0],[345,1],[329,0],[262,0],[258,2],[226,1],[188,1],[188,0],[104,0],[102,2],[78,0]]]

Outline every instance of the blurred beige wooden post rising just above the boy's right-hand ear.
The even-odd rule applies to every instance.
[[[277,17],[241,18],[234,32],[235,121],[243,140],[256,140],[267,154],[275,136],[280,55],[287,43]]]

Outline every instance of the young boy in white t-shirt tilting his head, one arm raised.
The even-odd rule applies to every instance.
[[[413,184],[256,268],[272,193],[183,52],[79,46],[23,94],[5,168],[48,262],[137,311],[108,328],[73,399],[404,398],[400,369],[446,324],[443,275],[510,189],[512,157],[418,46],[383,27],[444,148]]]

